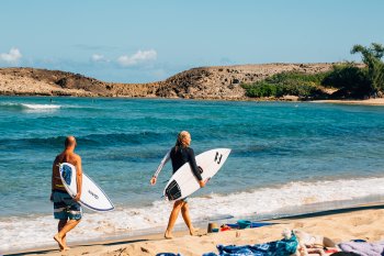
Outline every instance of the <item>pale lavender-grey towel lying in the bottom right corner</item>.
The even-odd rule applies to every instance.
[[[343,252],[355,253],[361,256],[384,256],[384,241],[379,243],[346,242],[339,244]]]

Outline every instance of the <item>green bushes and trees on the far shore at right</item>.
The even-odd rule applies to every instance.
[[[330,71],[306,74],[285,71],[252,84],[242,84],[251,98],[281,98],[297,96],[300,99],[376,98],[384,94],[384,46],[354,45],[351,54],[361,53],[364,66],[355,63],[336,64]]]

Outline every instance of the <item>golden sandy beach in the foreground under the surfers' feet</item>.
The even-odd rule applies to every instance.
[[[326,236],[335,243],[351,240],[380,242],[384,240],[384,205],[368,205],[346,210],[326,211],[290,219],[273,220],[274,225],[207,233],[201,226],[200,234],[190,236],[187,232],[176,233],[176,238],[163,240],[162,234],[136,236],[123,241],[108,241],[93,244],[72,245],[65,253],[56,248],[41,248],[22,255],[156,255],[180,253],[202,255],[217,253],[216,245],[253,245],[282,238],[284,229],[300,230],[310,235]],[[221,224],[221,223],[218,223]],[[69,234],[70,235],[70,234]]]

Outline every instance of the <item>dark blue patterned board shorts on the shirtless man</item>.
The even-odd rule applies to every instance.
[[[80,220],[82,209],[80,203],[75,201],[69,193],[61,190],[54,190],[54,216],[58,220]]]

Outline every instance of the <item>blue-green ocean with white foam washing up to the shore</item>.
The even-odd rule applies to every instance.
[[[384,107],[0,97],[0,252],[56,245],[50,176],[67,135],[116,207],[86,210],[69,245],[163,232],[171,165],[149,180],[182,130],[196,154],[231,148],[189,199],[195,225],[384,202]],[[180,218],[176,230],[184,229]]]

